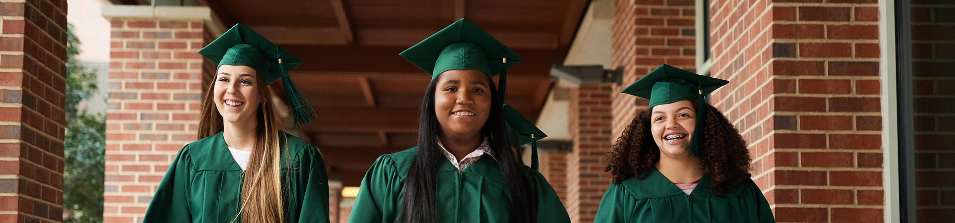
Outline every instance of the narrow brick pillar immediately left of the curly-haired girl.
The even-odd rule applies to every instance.
[[[610,152],[610,83],[584,84],[570,90],[568,133],[574,147],[567,157],[567,197],[571,222],[593,222],[610,174],[604,157]]]

